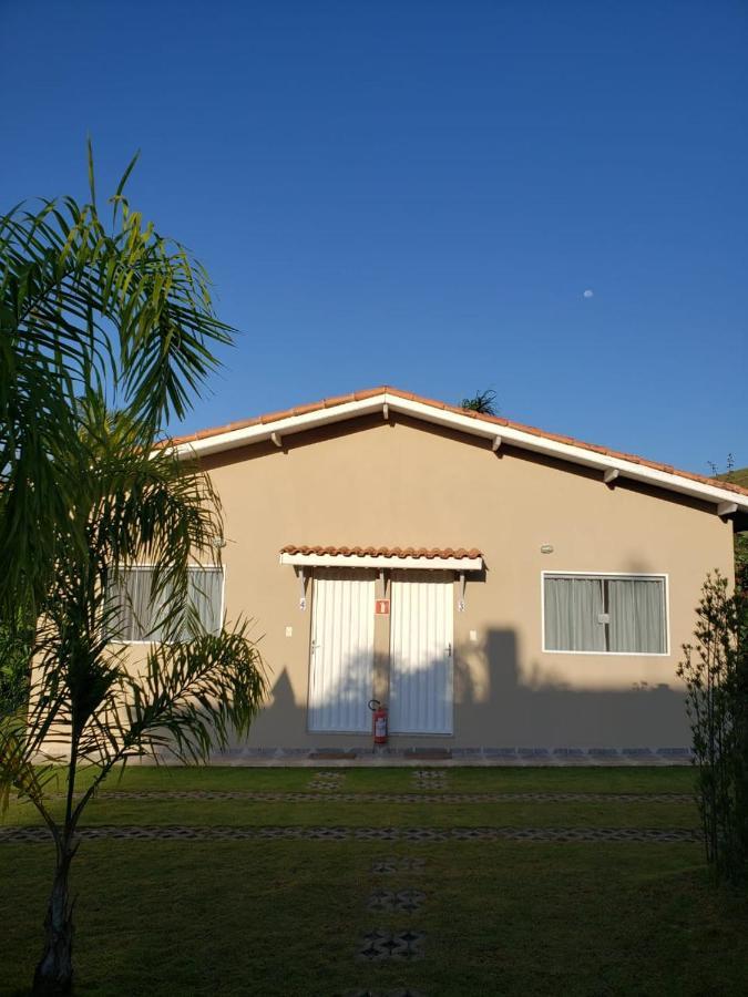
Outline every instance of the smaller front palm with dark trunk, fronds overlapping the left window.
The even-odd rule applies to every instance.
[[[114,767],[143,754],[205,761],[246,733],[265,693],[247,624],[209,633],[189,602],[188,566],[215,564],[221,508],[209,480],[168,446],[142,446],[136,419],[106,413],[91,394],[80,407],[76,445],[55,467],[75,481],[69,522],[58,524],[57,559],[39,603],[34,667],[25,710],[0,720],[0,793],[30,800],[55,846],[45,942],[35,994],[72,984],[70,866],[86,804]],[[84,544],[76,542],[84,537]],[[130,646],[113,643],[132,605],[113,598],[122,573],[153,566],[152,600],[161,641],[134,667]],[[63,769],[64,809],[50,805]],[[80,788],[82,770],[89,770]]]

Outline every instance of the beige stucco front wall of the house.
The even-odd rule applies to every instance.
[[[732,573],[714,506],[406,419],[366,418],[205,460],[225,515],[226,611],[255,620],[273,689],[249,748],[369,747],[307,732],[311,587],[299,608],[288,543],[479,547],[484,576],[454,613],[454,734],[391,739],[453,748],[663,748],[689,743],[680,646],[707,571]],[[553,545],[542,554],[541,545]],[[664,573],[666,657],[546,654],[541,572]],[[389,618],[376,619],[386,698]],[[291,636],[287,636],[291,628]],[[475,639],[471,639],[474,631]]]

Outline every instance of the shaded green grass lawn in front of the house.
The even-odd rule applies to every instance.
[[[310,770],[130,770],[119,789],[307,790]],[[447,771],[447,791],[687,792],[688,769]],[[114,787],[112,787],[114,788]],[[346,791],[412,774],[346,770]],[[86,823],[695,826],[684,803],[386,804],[96,801]],[[6,823],[18,824],[13,808]],[[372,873],[387,855],[423,868]],[[41,944],[45,844],[0,843],[0,993]],[[89,841],[75,860],[79,994],[332,997],[748,994],[748,907],[707,882],[697,844]],[[426,894],[410,914],[371,890]],[[375,928],[426,933],[422,962],[355,958]]]

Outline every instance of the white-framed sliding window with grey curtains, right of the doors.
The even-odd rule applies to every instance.
[[[665,578],[545,575],[545,650],[667,654]]]

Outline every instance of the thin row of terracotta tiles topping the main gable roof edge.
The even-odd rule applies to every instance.
[[[676,467],[673,467],[670,464],[659,463],[657,461],[650,461],[646,458],[637,456],[633,453],[625,453],[618,450],[611,450],[607,446],[601,446],[598,443],[586,443],[584,440],[577,440],[574,436],[565,436],[560,433],[550,433],[544,430],[537,429],[534,425],[525,425],[522,422],[513,422],[509,419],[504,419],[501,415],[483,415],[480,412],[467,411],[459,405],[449,405],[445,402],[436,401],[434,399],[422,398],[418,394],[412,394],[409,391],[400,391],[398,388],[390,388],[389,386],[381,386],[379,388],[370,388],[366,391],[356,391],[351,394],[342,394],[337,398],[328,398],[322,399],[319,402],[312,402],[308,405],[299,405],[295,409],[286,409],[280,412],[270,412],[266,415],[260,415],[256,419],[246,419],[242,422],[229,422],[227,425],[216,426],[214,429],[201,430],[196,433],[191,433],[185,436],[176,436],[173,440],[166,441],[164,445],[173,445],[181,443],[192,443],[196,440],[205,440],[209,436],[217,436],[222,433],[233,432],[235,430],[247,429],[250,425],[258,424],[268,424],[270,422],[276,422],[281,419],[289,419],[294,415],[300,415],[307,412],[316,412],[321,409],[332,409],[336,405],[342,405],[352,401],[363,401],[368,398],[375,398],[378,394],[391,394],[395,398],[402,398],[408,401],[418,402],[422,405],[428,405],[433,409],[440,409],[444,412],[454,412],[459,415],[465,415],[469,419],[475,419],[480,422],[486,422],[492,425],[504,425],[510,429],[518,430],[519,432],[529,433],[533,436],[539,436],[544,440],[552,440],[555,443],[565,443],[568,446],[577,446],[582,450],[588,450],[592,453],[598,453],[603,456],[614,458],[615,460],[628,461],[633,464],[639,464],[643,467],[652,467],[655,471],[664,471],[667,474],[675,474],[678,477],[685,477],[688,481],[696,481],[700,484],[713,485],[718,489],[723,489],[727,492],[735,492],[738,495],[748,495],[748,487],[741,487],[740,485],[734,484],[729,481],[715,481],[713,477],[707,477],[704,474],[695,474],[691,471],[680,471]]]

